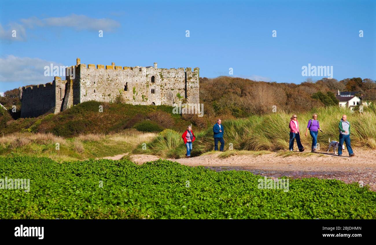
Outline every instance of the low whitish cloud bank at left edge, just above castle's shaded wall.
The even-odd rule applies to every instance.
[[[53,81],[53,76],[44,76],[44,67],[61,63],[39,58],[16,57],[8,55],[0,58],[0,87],[2,83],[22,83],[22,85],[41,84]]]

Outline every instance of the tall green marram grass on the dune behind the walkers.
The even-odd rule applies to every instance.
[[[311,148],[312,138],[304,136],[312,114],[318,114],[318,121],[323,132],[318,133],[318,143],[321,149],[327,149],[329,138],[338,141],[338,124],[343,114],[351,124],[351,144],[354,147],[368,147],[376,149],[376,106],[364,108],[364,112],[352,112],[341,107],[322,107],[310,112],[298,113],[299,130],[302,144],[306,149]],[[288,127],[291,115],[285,112],[270,113],[268,115],[254,115],[244,119],[222,119],[224,126],[225,150],[230,143],[234,150],[249,151],[277,151],[288,149]],[[183,132],[165,130],[147,144],[147,149],[138,146],[135,153],[155,154],[161,157],[185,157],[185,145],[181,138]],[[196,132],[196,141],[193,143],[192,155],[199,155],[214,148],[213,131]],[[295,148],[297,148],[295,146]]]

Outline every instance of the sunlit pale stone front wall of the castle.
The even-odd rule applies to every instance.
[[[192,72],[191,68],[155,69],[94,64],[86,67],[80,64],[76,73],[79,76],[73,86],[73,90],[79,88],[80,93],[77,93],[79,99],[74,95],[74,104],[89,100],[114,102],[119,96],[129,104],[172,106],[186,96],[190,103],[199,103],[198,73],[199,68]],[[187,84],[186,77],[189,78]]]

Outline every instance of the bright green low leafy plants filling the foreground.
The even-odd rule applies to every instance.
[[[1,219],[375,219],[376,196],[338,180],[289,181],[258,189],[247,171],[215,172],[168,160],[58,163],[0,157],[0,178],[30,179],[30,191],[0,189]],[[100,187],[101,182],[103,186]]]

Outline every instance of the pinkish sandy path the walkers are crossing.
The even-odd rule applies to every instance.
[[[269,177],[317,177],[342,180],[346,183],[362,181],[376,191],[376,151],[355,150],[355,157],[343,157],[332,154],[324,157],[319,155],[301,157],[281,157],[276,153],[261,156],[232,156],[218,159],[217,153],[212,155],[191,157],[185,159],[168,159],[188,166],[206,166],[215,170],[247,170],[255,174]],[[131,159],[139,164],[159,159],[152,155],[132,155]]]

